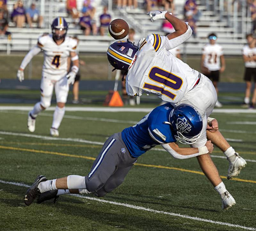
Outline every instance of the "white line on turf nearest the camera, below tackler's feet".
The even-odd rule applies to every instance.
[[[23,183],[4,181],[4,180],[1,180],[1,179],[0,179],[0,183],[16,185],[16,186],[21,186],[21,187],[27,187],[27,188],[30,187],[30,185],[26,185],[26,184],[23,184]],[[142,207],[142,206],[136,206],[136,205],[132,205],[132,204],[120,203],[120,202],[115,202],[115,201],[107,201],[107,200],[102,200],[102,199],[95,198],[95,197],[82,196],[82,195],[78,195],[78,194],[71,194],[71,195],[75,196],[75,197],[79,197],[79,198],[84,198],[86,200],[98,201],[98,202],[101,202],[101,203],[114,204],[114,205],[118,205],[118,206],[124,206],[124,207],[130,208],[130,209],[136,209],[136,210],[147,211],[147,212],[154,212],[154,213],[159,213],[159,214],[164,214],[164,215],[170,215],[170,216],[173,216],[173,217],[181,217],[181,218],[185,218],[185,219],[202,221],[202,222],[207,222],[207,223],[212,223],[212,224],[217,224],[217,225],[223,225],[223,226],[228,226],[228,227],[243,228],[243,229],[247,229],[247,230],[256,230],[256,228],[254,228],[254,227],[246,227],[246,226],[235,225],[235,224],[227,223],[227,222],[220,222],[220,221],[214,221],[214,220],[209,220],[209,219],[203,219],[203,218],[199,218],[199,217],[192,217],[192,216],[189,216],[189,215],[183,215],[183,214],[179,214],[179,213],[165,212],[165,211],[161,211],[161,210],[145,208],[145,207]]]

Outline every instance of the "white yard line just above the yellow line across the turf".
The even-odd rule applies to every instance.
[[[98,145],[104,144],[102,142],[90,141],[90,140],[78,139],[78,138],[60,138],[60,137],[51,137],[51,136],[39,136],[39,135],[32,135],[32,134],[27,134],[27,133],[15,133],[15,132],[8,132],[8,131],[0,131],[0,134],[11,135],[11,136],[25,136],[25,137],[45,139],[45,140],[73,141],[73,142],[80,142],[80,143],[86,143],[86,144],[98,144]],[[166,152],[164,149],[161,149],[161,148],[153,148],[152,150]],[[211,156],[215,157],[215,158],[226,158],[225,156],[218,156],[218,155],[211,155]],[[248,162],[256,162],[256,160],[250,160],[250,159],[245,159],[245,160]]]

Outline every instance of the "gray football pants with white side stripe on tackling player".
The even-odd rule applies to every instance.
[[[121,185],[137,158],[131,157],[121,133],[115,133],[104,143],[85,177],[86,189],[96,196],[104,196]]]

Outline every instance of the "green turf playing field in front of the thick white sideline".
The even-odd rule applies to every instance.
[[[138,159],[120,187],[100,198],[106,201],[92,200],[93,195],[64,195],[55,204],[49,201],[26,207],[23,196],[27,187],[3,181],[30,185],[39,174],[48,179],[87,175],[101,149],[100,143],[147,114],[68,111],[59,129],[60,139],[51,139],[52,113],[39,115],[36,131],[29,133],[27,111],[0,111],[2,230],[244,230],[232,227],[237,224],[256,229],[256,114],[212,115],[218,119],[224,136],[233,139],[230,144],[248,163],[236,179],[227,180],[228,161],[218,158],[223,154],[217,148],[212,153],[223,182],[236,199],[236,205],[228,211],[221,210],[220,197],[202,174],[196,158],[175,160],[154,149]]]

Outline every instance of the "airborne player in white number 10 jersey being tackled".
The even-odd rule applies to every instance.
[[[129,41],[117,41],[108,48],[108,61],[115,69],[127,71],[125,85],[128,95],[141,96],[148,92],[174,106],[186,103],[196,108],[202,116],[203,129],[201,136],[191,143],[191,147],[202,147],[207,138],[211,140],[227,156],[227,178],[233,178],[246,162],[218,131],[217,121],[209,117],[217,101],[217,93],[211,80],[169,52],[191,36],[191,28],[167,11],[151,11],[148,15],[151,21],[167,19],[175,32],[167,36],[150,34],[146,39],[140,40],[139,47]],[[209,157],[203,162],[207,166],[210,161]]]

